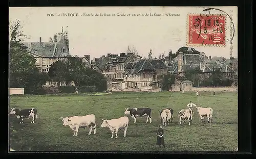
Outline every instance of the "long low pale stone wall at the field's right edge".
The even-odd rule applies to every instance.
[[[192,91],[238,91],[238,87],[193,87]]]

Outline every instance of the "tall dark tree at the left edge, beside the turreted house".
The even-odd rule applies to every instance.
[[[20,21],[9,21],[9,83],[10,87],[22,87],[25,93],[38,93],[46,83],[46,74],[36,68],[36,59],[29,54],[22,42],[26,35],[22,32]]]

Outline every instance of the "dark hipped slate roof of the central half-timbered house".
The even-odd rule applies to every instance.
[[[155,68],[167,68],[161,59],[142,59],[138,62],[127,63],[124,74],[137,74],[142,70],[155,70]]]

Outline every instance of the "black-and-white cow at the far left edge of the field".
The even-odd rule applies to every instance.
[[[35,119],[37,119],[37,109],[31,108],[31,109],[15,109],[12,108],[10,114],[15,114],[16,117],[19,119],[19,123],[24,123],[24,118],[29,119],[32,117],[31,123],[35,123]]]

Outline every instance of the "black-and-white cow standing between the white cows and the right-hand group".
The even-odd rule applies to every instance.
[[[148,122],[148,119],[150,119],[150,123],[152,122],[151,119],[151,110],[150,108],[125,108],[124,114],[131,115],[132,118],[134,118],[134,123],[136,123],[136,117],[144,117],[146,116],[146,123]]]

